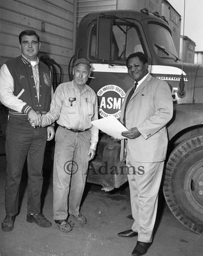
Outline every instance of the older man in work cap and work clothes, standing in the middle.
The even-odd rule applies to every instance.
[[[77,59],[73,81],[59,84],[50,111],[41,120],[42,126],[55,120],[59,124],[54,154],[54,220],[63,232],[72,229],[67,222],[68,212],[80,224],[86,223],[80,214],[80,203],[88,161],[95,156],[98,142],[98,129],[91,124],[98,119],[97,96],[86,84],[90,73],[89,61]]]

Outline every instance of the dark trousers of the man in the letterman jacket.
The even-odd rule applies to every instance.
[[[46,127],[33,128],[25,119],[10,117],[6,131],[5,207],[8,216],[18,213],[19,184],[26,157],[28,163],[28,214],[41,211],[42,165],[47,141]]]

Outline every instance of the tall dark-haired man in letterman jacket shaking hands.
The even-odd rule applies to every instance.
[[[37,58],[39,36],[33,30],[19,35],[21,56],[10,59],[0,70],[0,101],[9,109],[6,131],[6,217],[3,231],[11,231],[18,214],[19,184],[22,169],[28,163],[27,221],[40,227],[52,223],[41,214],[42,165],[47,140],[54,137],[54,127],[33,128],[50,109],[53,93],[49,68]]]

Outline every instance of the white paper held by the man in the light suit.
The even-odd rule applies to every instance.
[[[114,116],[104,117],[91,122],[102,132],[118,139],[126,139],[121,133],[128,131],[127,128]]]

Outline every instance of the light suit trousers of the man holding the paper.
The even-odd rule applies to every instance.
[[[138,232],[138,241],[151,242],[156,219],[159,188],[164,161],[136,162],[127,151],[128,182],[134,223],[131,229]]]

